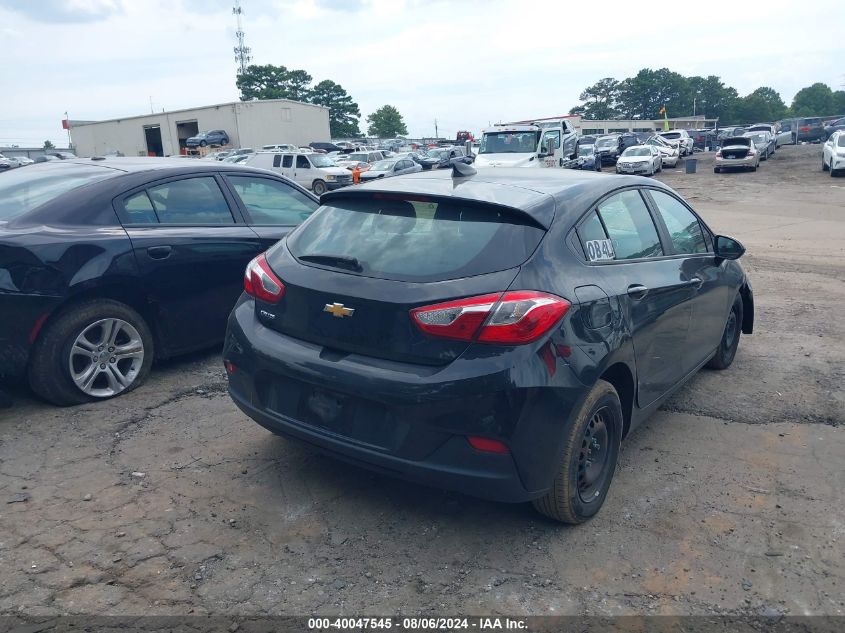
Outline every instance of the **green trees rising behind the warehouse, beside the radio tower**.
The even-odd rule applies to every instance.
[[[313,77],[304,70],[289,70],[285,66],[253,64],[238,74],[235,84],[241,91],[241,101],[257,99],[292,99],[329,109],[329,129],[332,138],[355,138],[361,135],[358,127],[361,110],[344,90],[330,79],[312,85]],[[367,133],[378,138],[407,134],[402,115],[395,107],[384,105],[367,117]]]

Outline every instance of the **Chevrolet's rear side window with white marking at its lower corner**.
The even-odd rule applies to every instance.
[[[601,202],[598,213],[588,215],[578,227],[578,235],[584,252],[588,252],[592,240],[609,238],[613,244],[612,257],[596,256],[590,259],[623,260],[663,255],[663,247],[648,207],[635,190],[617,193]]]

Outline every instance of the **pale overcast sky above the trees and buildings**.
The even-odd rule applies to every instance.
[[[565,114],[643,67],[761,85],[789,105],[845,85],[845,2],[242,0],[253,62],[340,83],[412,136]],[[230,0],[0,0],[0,145],[64,145],[61,119],[235,101]],[[681,115],[685,113],[670,113]],[[363,122],[362,122],[363,123]],[[362,124],[362,129],[366,124]],[[316,139],[315,139],[316,140]]]

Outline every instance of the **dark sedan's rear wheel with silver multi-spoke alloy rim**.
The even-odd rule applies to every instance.
[[[105,327],[111,328],[111,337]],[[116,344],[111,349],[107,344],[109,338]],[[84,342],[78,344],[82,339]],[[127,348],[123,358],[119,358],[119,353],[109,357],[110,352],[121,346]],[[83,349],[85,353],[80,354]],[[72,353],[72,350],[77,351]],[[89,351],[92,356],[101,356],[103,362],[99,368],[96,361],[88,358]],[[150,328],[135,310],[110,299],[86,301],[71,306],[44,328],[30,356],[29,384],[41,398],[60,406],[104,400],[132,391],[143,383],[154,355]],[[72,367],[77,368],[80,380],[93,367],[87,390],[74,382]]]

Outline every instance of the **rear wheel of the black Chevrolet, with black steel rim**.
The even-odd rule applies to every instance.
[[[563,454],[552,487],[532,502],[538,512],[563,523],[583,523],[595,516],[604,504],[616,470],[622,425],[622,405],[616,389],[598,380],[577,413],[564,425]],[[599,444],[602,441],[604,446]],[[594,450],[602,460],[598,470],[584,466],[590,463],[589,457],[596,458]]]

